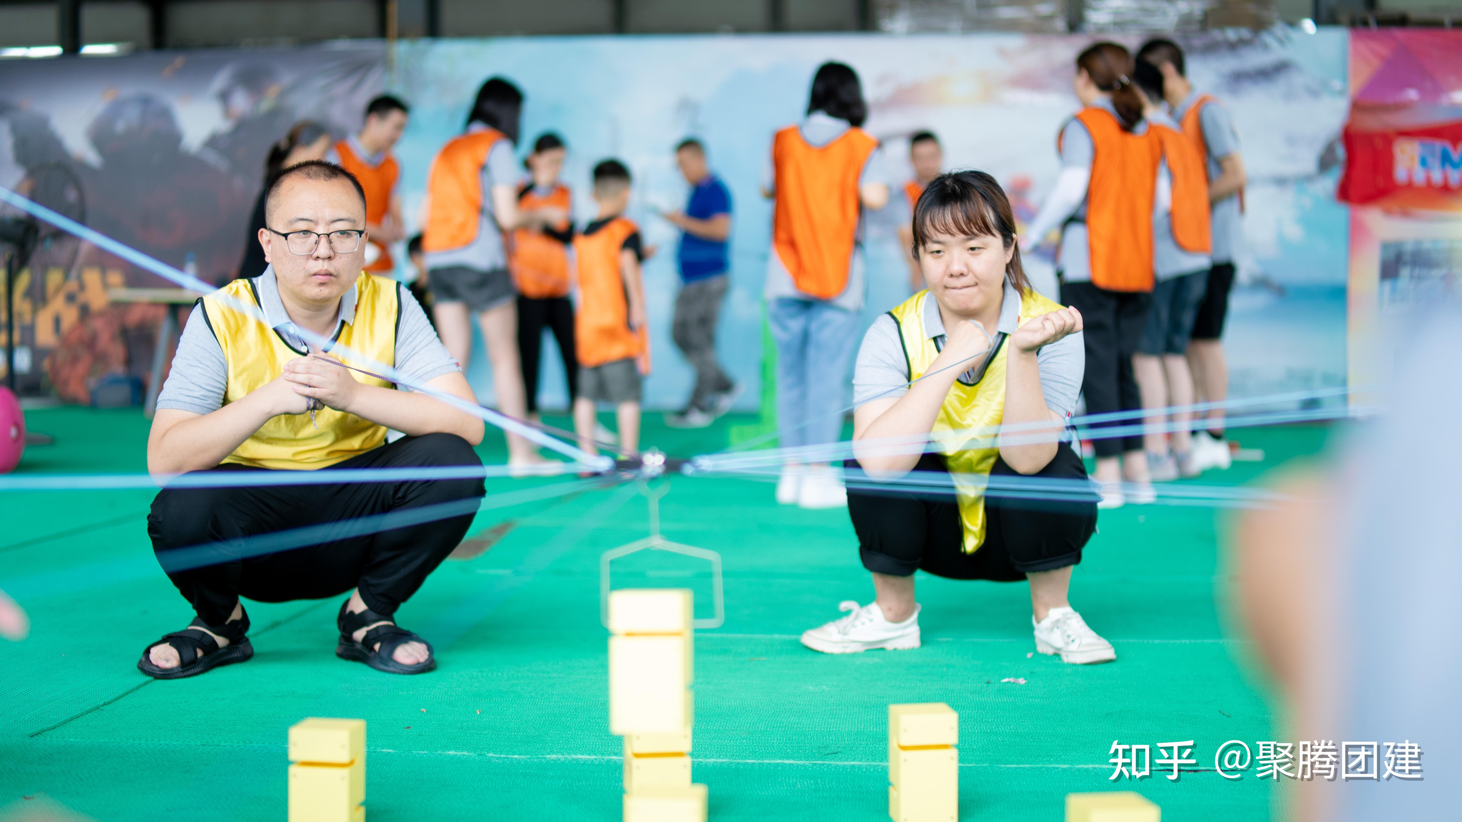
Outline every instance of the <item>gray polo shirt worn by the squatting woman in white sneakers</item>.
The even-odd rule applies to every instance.
[[[1010,280],[1006,280],[996,330],[1012,334],[1019,327],[1019,318],[1020,295]],[[939,315],[939,302],[933,293],[924,301],[924,331],[936,346],[944,347],[944,320]],[[1082,333],[1077,331],[1035,353],[1045,407],[1060,415],[1070,416],[1076,409],[1076,396],[1082,390],[1082,374],[1086,369],[1085,345]],[[961,381],[971,384],[966,375],[961,375]],[[863,347],[858,349],[858,362],[852,372],[852,402],[861,406],[882,397],[902,397],[908,393],[908,383],[909,364],[904,355],[899,324],[892,315],[880,314],[863,336]]]

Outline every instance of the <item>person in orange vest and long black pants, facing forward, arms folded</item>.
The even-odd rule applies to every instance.
[[[573,212],[569,187],[558,181],[567,155],[563,139],[539,134],[523,164],[529,180],[518,187],[518,206],[528,212],[560,209],[554,225],[525,226],[509,235],[507,263],[518,285],[518,353],[523,364],[528,416],[538,419],[538,364],[544,329],[553,331],[569,383],[569,404],[579,396],[579,361],[573,343],[573,302],[569,299],[569,248],[573,245]]]

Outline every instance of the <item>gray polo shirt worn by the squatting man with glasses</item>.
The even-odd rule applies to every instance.
[[[279,283],[275,280],[273,266],[254,277],[254,288],[259,291],[259,302],[269,326],[279,331],[291,347],[304,350],[304,343],[291,333],[294,323],[289,321],[289,314],[279,299]],[[461,371],[462,368],[437,339],[437,333],[427,321],[417,298],[401,286],[396,288],[396,296],[401,299],[401,323],[396,329],[396,371],[417,384],[436,380],[452,371]],[[158,394],[159,409],[213,413],[224,407],[224,391],[228,388],[228,362],[224,359],[224,349],[218,345],[218,337],[213,336],[202,314],[203,307],[194,305],[187,326],[183,327],[183,339],[178,340],[178,350],[173,355],[173,371],[168,374],[167,383],[162,384],[162,393]],[[345,324],[354,321],[355,289],[352,288],[341,296],[341,315],[335,321],[332,339],[341,333]]]

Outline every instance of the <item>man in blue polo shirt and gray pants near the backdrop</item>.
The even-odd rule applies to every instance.
[[[731,270],[727,239],[731,237],[731,193],[706,165],[700,140],[689,139],[675,146],[675,162],[690,183],[690,201],[684,213],[667,212],[664,218],[680,228],[680,295],[671,336],[696,369],[696,388],[686,410],[665,418],[673,428],[705,428],[731,410],[741,393],[716,361],[716,321],[727,295]]]

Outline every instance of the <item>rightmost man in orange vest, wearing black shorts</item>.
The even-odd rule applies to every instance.
[[[1183,133],[1197,146],[1208,168],[1208,199],[1213,225],[1213,267],[1208,273],[1203,302],[1193,324],[1187,359],[1199,402],[1221,403],[1228,397],[1228,361],[1224,358],[1224,320],[1228,317],[1228,292],[1234,288],[1234,263],[1243,248],[1244,158],[1238,153],[1234,120],[1212,95],[1199,92],[1184,74],[1183,50],[1171,39],[1149,39],[1137,57],[1162,73],[1162,98],[1173,110]],[[1224,437],[1224,409],[1211,409],[1206,432],[1193,437],[1193,453],[1200,469],[1227,469],[1228,441]]]

